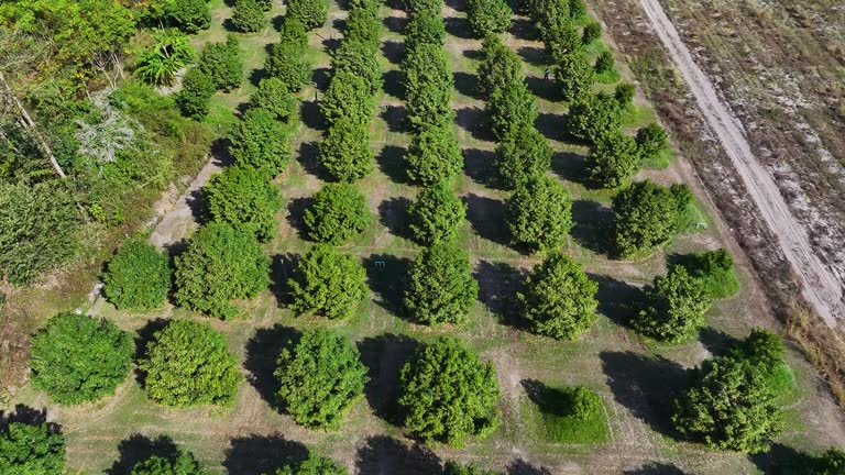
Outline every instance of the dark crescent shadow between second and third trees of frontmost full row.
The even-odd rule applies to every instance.
[[[246,380],[273,410],[279,412],[284,407],[276,397],[278,382],[273,372],[276,371],[276,361],[282,350],[296,344],[299,336],[301,333],[298,330],[276,323],[272,328],[255,330],[255,334],[246,341],[244,349],[246,355],[243,367],[249,373]]]

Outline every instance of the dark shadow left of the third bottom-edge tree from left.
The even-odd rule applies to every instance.
[[[230,474],[274,474],[285,465],[308,459],[305,444],[279,433],[239,437],[229,443],[223,467]]]

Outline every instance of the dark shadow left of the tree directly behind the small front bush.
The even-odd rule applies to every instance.
[[[516,292],[522,289],[527,273],[505,262],[479,261],[473,277],[479,283],[479,301],[500,323],[516,329],[528,328],[519,313]]]

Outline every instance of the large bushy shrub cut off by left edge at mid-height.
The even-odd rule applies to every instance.
[[[0,183],[0,277],[29,284],[68,263],[78,248],[70,196],[50,185]]]

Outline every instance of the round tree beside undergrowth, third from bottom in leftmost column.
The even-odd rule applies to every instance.
[[[169,256],[132,239],[114,253],[102,275],[102,292],[119,309],[160,308],[171,291]]]

